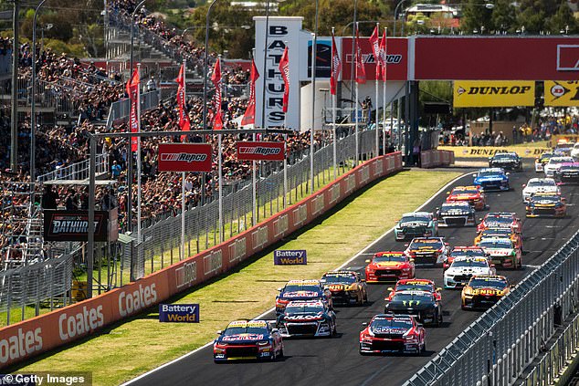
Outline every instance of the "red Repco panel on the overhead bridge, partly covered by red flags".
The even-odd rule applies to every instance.
[[[360,37],[363,64],[366,69],[366,80],[376,79],[376,58],[372,51],[369,37]],[[386,68],[388,80],[406,80],[408,74],[408,41],[401,37],[388,37]],[[342,80],[353,79],[352,37],[342,37]]]

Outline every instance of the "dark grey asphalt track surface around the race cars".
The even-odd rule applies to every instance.
[[[512,271],[498,269],[511,283],[518,283],[529,275],[574,234],[579,214],[579,187],[563,186],[567,198],[567,217],[563,219],[531,218],[524,216],[521,201],[521,184],[539,176],[527,164],[525,172],[511,172],[514,191],[487,193],[490,211],[517,212],[523,221],[523,268]],[[466,172],[466,171],[465,171]],[[472,176],[464,176],[453,185],[472,182]],[[424,210],[433,212],[446,198],[442,192]],[[478,212],[482,217],[485,212]],[[393,224],[394,225],[394,224]],[[472,245],[475,228],[440,228],[450,246]],[[378,242],[357,256],[346,267],[363,272],[364,260],[375,252],[403,250],[405,243],[396,242],[394,233],[384,235]],[[416,269],[416,277],[435,280],[443,287],[442,268]],[[336,308],[338,337],[334,339],[284,339],[285,358],[276,362],[228,362],[215,364],[212,346],[199,349],[192,355],[153,370],[132,381],[132,385],[400,385],[407,381],[428,360],[443,349],[460,331],[481,315],[477,311],[460,309],[460,291],[443,290],[442,308],[444,323],[440,328],[426,328],[426,354],[421,357],[408,355],[361,356],[358,353],[361,324],[383,312],[384,296],[388,285],[369,285],[369,303],[363,307]],[[272,304],[272,307],[274,305]],[[266,319],[274,319],[271,312]],[[179,337],[175,337],[179,339]],[[143,347],[146,355],[146,344]]]

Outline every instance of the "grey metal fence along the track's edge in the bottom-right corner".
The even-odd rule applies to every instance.
[[[578,249],[579,232],[426,363],[405,386],[511,385],[517,381],[546,349],[556,326],[577,311]],[[553,359],[542,361],[536,376],[550,379],[557,370],[549,369],[551,365]]]

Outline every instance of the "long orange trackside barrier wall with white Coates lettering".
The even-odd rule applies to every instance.
[[[309,224],[356,190],[401,169],[400,152],[376,157],[343,174],[320,192],[290,205],[220,245],[98,297],[2,328],[0,368],[85,337],[186,288],[221,275],[283,236]]]

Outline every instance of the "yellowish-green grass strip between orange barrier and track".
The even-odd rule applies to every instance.
[[[173,303],[199,303],[199,324],[159,323],[158,308],[150,308],[76,346],[13,370],[91,371],[95,385],[128,381],[204,345],[230,320],[254,318],[273,307],[276,288],[283,282],[291,278],[318,278],[340,266],[390,229],[401,214],[415,210],[459,174],[399,172],[342,203],[315,226],[276,245],[283,249],[306,249],[307,266],[273,266],[273,253],[269,250],[229,276],[170,299]]]

